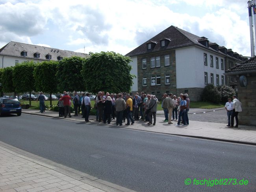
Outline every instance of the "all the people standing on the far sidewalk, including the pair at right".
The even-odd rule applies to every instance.
[[[43,93],[39,93],[38,100],[40,101],[40,111],[44,111],[44,96]],[[104,91],[99,91],[98,95],[95,97],[95,105],[91,105],[91,100],[89,98],[89,93],[82,93],[78,95],[74,92],[74,98],[71,99],[69,94],[64,91],[60,95],[58,100],[59,106],[59,116],[66,118],[67,115],[71,117],[70,106],[71,102],[74,105],[74,116],[78,116],[82,112],[82,118],[85,118],[85,122],[89,121],[89,114],[94,107],[96,109],[96,121],[103,122],[104,124],[115,120],[116,125],[122,126],[124,122],[125,125],[133,125],[137,120],[143,120],[150,125],[156,125],[156,112],[158,104],[158,98],[155,95],[145,94],[144,92],[135,93],[133,96],[125,92],[119,94],[109,94],[109,92],[104,93]],[[168,124],[173,124],[173,121],[178,121],[175,126],[186,126],[189,125],[189,97],[188,94],[180,94],[177,98],[176,95],[172,93],[163,94],[161,107],[164,111],[165,120]],[[226,102],[225,109],[228,116],[228,127],[238,127],[238,113],[242,111],[241,102],[233,96],[233,101],[228,98]],[[236,118],[236,126],[234,126],[234,118]]]

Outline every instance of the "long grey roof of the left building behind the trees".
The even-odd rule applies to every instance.
[[[27,52],[27,56],[22,56],[20,54],[21,52]],[[40,58],[35,58],[34,57],[35,53],[39,53]],[[61,56],[61,57],[89,56],[89,54],[83,54],[83,53],[78,53],[73,51],[60,50],[56,48],[49,48],[49,47],[14,42],[14,41],[9,42],[8,44],[6,44],[4,47],[0,49],[0,55],[48,61],[48,59],[45,59],[45,56],[47,54],[50,54],[52,56],[52,60],[56,60],[56,61],[58,60],[57,59],[58,56]]]

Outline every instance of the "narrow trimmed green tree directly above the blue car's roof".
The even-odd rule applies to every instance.
[[[15,85],[13,84],[13,67],[6,67],[2,74],[2,85],[4,92],[15,92]]]

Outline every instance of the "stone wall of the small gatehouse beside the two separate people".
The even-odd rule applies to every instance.
[[[239,78],[237,78],[237,82],[239,82]],[[246,87],[237,84],[237,98],[242,103],[242,112],[238,114],[239,124],[256,126],[256,74],[247,76]]]

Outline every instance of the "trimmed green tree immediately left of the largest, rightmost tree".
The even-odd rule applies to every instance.
[[[83,78],[81,74],[85,58],[82,57],[65,57],[59,61],[57,67],[58,90],[65,91],[82,91],[84,90]]]

